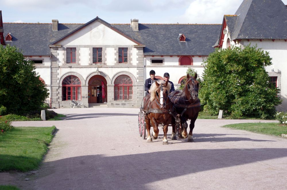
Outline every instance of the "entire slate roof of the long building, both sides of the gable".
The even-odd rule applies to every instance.
[[[37,56],[50,55],[49,44],[88,23],[59,23],[59,31],[52,31],[51,23],[3,23],[3,28],[5,36],[11,33],[13,37],[7,44],[19,47],[24,55]],[[221,28],[220,24],[139,24],[139,31],[133,31],[130,24],[106,24],[146,45],[145,55],[209,55]],[[179,33],[185,35],[186,42],[179,42]]]

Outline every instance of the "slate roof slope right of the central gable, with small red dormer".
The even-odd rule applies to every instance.
[[[145,44],[144,55],[209,55],[219,38],[220,24],[139,24],[133,31],[129,24],[111,24]],[[179,42],[179,34],[185,42]]]

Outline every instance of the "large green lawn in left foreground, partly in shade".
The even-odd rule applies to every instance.
[[[0,135],[0,172],[37,169],[56,127],[15,127]]]

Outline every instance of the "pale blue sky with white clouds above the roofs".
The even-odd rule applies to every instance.
[[[243,0],[0,0],[3,22],[221,24]],[[286,5],[287,0],[282,0]]]

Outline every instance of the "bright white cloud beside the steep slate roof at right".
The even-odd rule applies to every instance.
[[[234,14],[242,0],[195,0],[180,16],[181,23],[222,23],[224,14]]]

